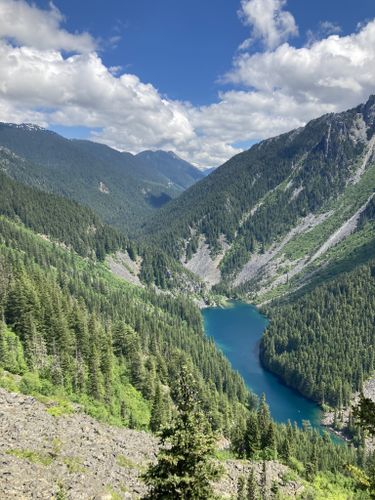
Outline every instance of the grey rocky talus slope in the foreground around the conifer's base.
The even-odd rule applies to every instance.
[[[52,407],[53,408],[53,407]],[[118,500],[146,493],[141,475],[155,459],[158,443],[147,434],[102,424],[79,407],[51,415],[51,405],[0,388],[0,499]],[[235,495],[240,475],[261,464],[228,460],[216,485],[223,498]],[[289,498],[303,489],[287,480],[288,468],[267,463],[268,486]]]

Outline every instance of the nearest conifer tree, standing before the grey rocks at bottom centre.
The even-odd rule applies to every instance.
[[[177,415],[161,434],[158,461],[144,478],[152,500],[183,498],[208,499],[213,496],[210,481],[221,470],[212,462],[214,435],[199,408],[196,382],[183,366],[176,393]]]

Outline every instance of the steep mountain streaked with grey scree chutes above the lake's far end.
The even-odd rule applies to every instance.
[[[254,145],[173,200],[146,239],[210,285],[263,302],[375,240],[375,96]],[[371,210],[370,210],[371,211]]]

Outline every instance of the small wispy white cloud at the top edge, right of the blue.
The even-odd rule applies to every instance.
[[[294,17],[283,10],[285,4],[286,0],[241,0],[239,15],[252,32],[240,48],[248,48],[254,39],[261,39],[268,49],[274,49],[298,35]]]

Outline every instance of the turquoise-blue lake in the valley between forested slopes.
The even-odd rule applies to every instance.
[[[321,427],[320,408],[262,368],[259,343],[267,319],[255,307],[233,302],[224,309],[204,309],[203,317],[206,334],[215,340],[248,387],[258,396],[266,395],[277,422],[289,419],[301,426],[302,420],[309,420],[314,427]]]

